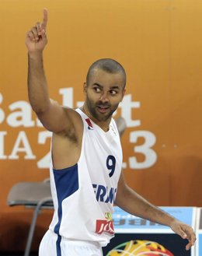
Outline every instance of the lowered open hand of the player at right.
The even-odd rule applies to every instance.
[[[179,222],[176,219],[172,222],[170,228],[183,239],[189,240],[189,243],[186,244],[186,250],[190,250],[190,247],[195,244],[197,239],[196,234],[193,232],[193,228],[185,223]]]

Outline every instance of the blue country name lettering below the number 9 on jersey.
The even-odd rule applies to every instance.
[[[108,188],[103,185],[92,184],[98,202],[110,202],[113,204],[116,198],[117,188]]]

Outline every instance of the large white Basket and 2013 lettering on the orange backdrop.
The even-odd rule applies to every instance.
[[[61,104],[66,107],[74,107],[74,89],[73,88],[61,88],[59,89],[59,94],[62,97]],[[28,128],[40,128],[42,124],[36,118],[33,119],[33,112],[30,107],[30,103],[25,100],[19,100],[11,103],[6,110],[3,109],[3,96],[0,93],[0,124],[6,124],[12,128],[23,128],[16,136],[15,141],[12,144],[12,151],[10,154],[6,155],[5,146],[6,139],[9,136],[7,131],[0,131],[0,160],[18,160],[23,158],[24,160],[35,160],[37,156],[37,149],[33,149],[29,141]],[[76,103],[75,107],[82,106],[81,101]],[[140,102],[133,101],[131,94],[124,96],[123,101],[120,103],[121,116],[123,116],[127,122],[127,128],[137,128],[141,125],[140,120],[133,120],[132,113],[133,110],[141,106]],[[114,113],[116,114],[116,113]],[[37,135],[38,145],[44,145],[50,143],[51,132],[40,131]],[[144,142],[141,145],[137,145],[139,138],[143,138]],[[152,132],[145,130],[132,131],[129,134],[129,143],[134,145],[134,152],[132,156],[129,156],[127,162],[124,163],[123,167],[129,167],[134,170],[146,169],[153,166],[157,160],[157,154],[155,153],[153,146],[155,146],[156,138]],[[20,153],[20,154],[19,154]],[[22,154],[23,153],[23,154]],[[144,160],[138,162],[137,154],[144,156]],[[40,169],[49,168],[51,154],[47,153],[41,159],[37,159],[37,167]]]

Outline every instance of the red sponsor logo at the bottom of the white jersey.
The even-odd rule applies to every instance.
[[[96,220],[96,233],[110,233],[114,234],[113,219],[110,212],[105,212],[105,219]]]

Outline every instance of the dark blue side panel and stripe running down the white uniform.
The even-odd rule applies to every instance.
[[[78,164],[76,163],[72,167],[68,167],[62,170],[54,170],[54,182],[57,191],[57,216],[58,222],[54,227],[54,232],[57,233],[57,256],[61,256],[61,236],[59,235],[59,230],[61,226],[62,219],[62,201],[68,198],[70,195],[74,194],[78,190]]]

